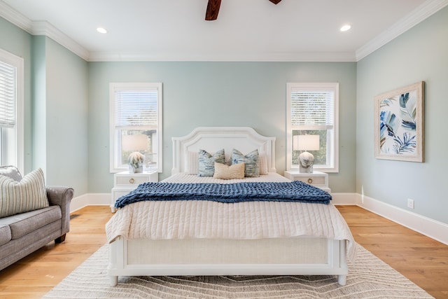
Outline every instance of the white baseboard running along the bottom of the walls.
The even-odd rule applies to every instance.
[[[448,245],[448,224],[412,213],[405,209],[386,204],[358,193],[331,193],[332,204],[357,205],[374,214],[383,216],[395,223],[426,235]],[[71,200],[70,211],[76,211],[88,205],[110,205],[110,193],[87,193]]]

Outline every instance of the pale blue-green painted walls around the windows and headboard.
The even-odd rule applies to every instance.
[[[113,184],[109,82],[164,84],[163,179],[172,167],[171,137],[205,125],[251,126],[275,136],[276,165],[282,173],[286,83],[336,81],[339,173],[330,174],[332,190],[363,193],[403,209],[412,198],[417,214],[448,223],[448,141],[443,125],[448,109],[448,8],[358,63],[87,63],[2,18],[0,36],[0,48],[25,60],[25,172],[43,164],[48,183],[75,186],[76,195],[110,193]],[[425,162],[374,159],[373,97],[417,81],[426,81]],[[38,138],[41,129],[46,134],[43,143]]]

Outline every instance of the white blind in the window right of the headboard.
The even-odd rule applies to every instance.
[[[335,94],[321,90],[291,90],[291,125],[331,129]]]

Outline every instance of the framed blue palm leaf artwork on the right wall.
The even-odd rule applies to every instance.
[[[424,82],[374,97],[375,158],[423,162]]]

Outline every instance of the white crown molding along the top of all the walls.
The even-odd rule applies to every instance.
[[[266,61],[266,62],[358,62],[414,25],[448,5],[448,0],[427,0],[392,27],[356,50],[355,53],[90,53],[45,21],[34,22],[0,0],[0,17],[29,34],[48,36],[83,60],[107,61]]]

